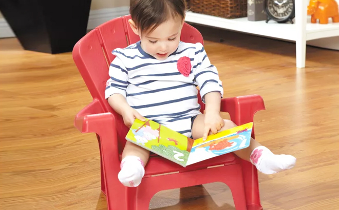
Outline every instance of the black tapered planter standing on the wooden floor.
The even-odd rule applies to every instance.
[[[25,50],[72,51],[86,34],[91,0],[0,0],[0,10]]]

